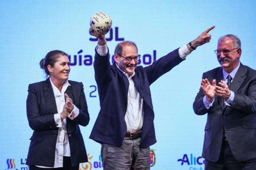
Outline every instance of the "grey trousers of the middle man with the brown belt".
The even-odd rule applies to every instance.
[[[103,143],[101,159],[104,170],[150,169],[150,149],[140,148],[140,137],[134,140],[124,138],[121,147]]]

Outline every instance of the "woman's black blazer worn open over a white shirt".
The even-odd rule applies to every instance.
[[[73,120],[66,118],[72,166],[87,162],[84,140],[79,125],[89,123],[89,113],[82,83],[69,81],[65,93],[79,108],[79,115]],[[54,114],[58,113],[52,85],[46,81],[30,84],[27,96],[27,118],[34,130],[27,156],[27,165],[54,166],[58,128]]]

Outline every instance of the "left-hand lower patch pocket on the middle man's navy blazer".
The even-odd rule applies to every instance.
[[[117,117],[106,112],[100,112],[96,120],[97,131],[103,136],[116,135]]]

